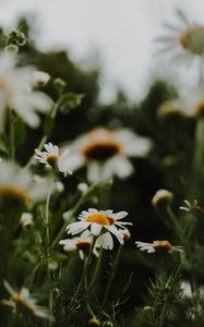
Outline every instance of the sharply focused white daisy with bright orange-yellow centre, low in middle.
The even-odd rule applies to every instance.
[[[125,229],[124,226],[132,225],[131,222],[120,221],[125,216],[128,216],[127,211],[115,214],[112,210],[97,210],[89,208],[87,211],[82,211],[79,216],[80,221],[70,223],[67,227],[67,230],[68,233],[72,235],[88,230],[88,237],[98,237],[96,241],[97,245],[112,250],[112,234],[121,244],[123,244],[123,234],[119,228]]]

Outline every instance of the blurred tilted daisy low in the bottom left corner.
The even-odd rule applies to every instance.
[[[14,311],[25,312],[27,314],[35,315],[36,317],[53,320],[53,317],[49,314],[48,310],[44,306],[36,304],[36,300],[31,296],[29,290],[25,287],[21,291],[15,291],[7,281],[4,287],[11,295],[11,300],[1,300],[1,304],[10,304]]]

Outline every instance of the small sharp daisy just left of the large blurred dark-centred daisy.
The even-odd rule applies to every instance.
[[[52,143],[48,143],[44,145],[46,152],[40,152],[39,149],[35,149],[36,156],[35,159],[40,164],[44,164],[48,167],[52,167],[53,169],[58,169],[60,172],[67,175],[68,173],[72,174],[72,171],[69,169],[69,154],[70,149],[65,149],[61,155],[59,147],[53,145]]]

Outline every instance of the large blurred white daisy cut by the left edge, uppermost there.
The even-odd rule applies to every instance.
[[[16,68],[16,56],[0,55],[0,122],[4,125],[8,108],[16,113],[31,128],[39,125],[38,112],[51,108],[51,99],[41,92],[33,90],[33,69]]]

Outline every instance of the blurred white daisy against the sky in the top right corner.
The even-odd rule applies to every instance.
[[[190,22],[180,10],[177,11],[177,24],[164,24],[168,32],[156,39],[163,45],[160,51],[169,52],[179,64],[189,66],[195,61],[203,64],[204,25]]]

